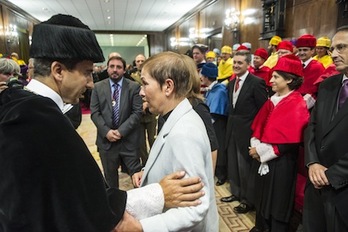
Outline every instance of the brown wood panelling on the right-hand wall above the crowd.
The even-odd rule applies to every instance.
[[[279,0],[286,1],[285,36],[286,39],[297,38],[302,34],[311,33],[316,37],[332,37],[337,28],[336,0]],[[241,12],[241,24],[238,38],[224,27],[225,11],[234,7]],[[256,10],[252,15],[245,12]],[[262,32],[263,9],[261,0],[220,0],[195,15],[196,27],[221,27],[222,46],[232,46],[236,40],[250,42],[252,51],[258,47],[268,47],[268,40],[260,40]],[[245,23],[246,18],[253,19],[252,23]],[[249,19],[250,19],[249,18]],[[250,22],[250,21],[249,21]],[[192,26],[192,25],[190,25]],[[180,32],[187,30],[186,22],[179,26]],[[200,41],[207,43],[207,40]],[[178,50],[179,51],[179,50]],[[181,51],[181,50],[180,50]]]

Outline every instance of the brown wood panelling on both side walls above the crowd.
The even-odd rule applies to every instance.
[[[286,2],[285,12],[285,38],[297,38],[298,36],[311,33],[316,37],[327,35],[332,37],[337,28],[338,6],[336,0],[278,0]],[[21,29],[21,36],[31,35],[32,27],[35,22],[33,19],[25,17],[22,13],[9,9],[7,5],[0,4],[0,52],[17,51],[24,60],[27,60],[29,48],[26,46],[16,46],[9,48],[4,38],[4,26],[9,23],[16,23]],[[234,7],[241,12],[241,25],[238,37],[227,30],[224,26],[225,11]],[[246,24],[245,12],[250,9],[256,11],[249,15],[253,19],[252,23]],[[232,46],[236,40],[240,42],[250,42],[255,51],[258,47],[266,48],[268,40],[259,40],[262,32],[263,10],[261,0],[218,0],[215,3],[195,13],[185,19],[174,29],[158,32],[148,38],[150,42],[150,53],[155,54],[161,51],[173,50],[185,53],[190,46],[171,47],[170,38],[188,37],[189,29],[213,28],[212,33],[222,33],[221,45]],[[18,26],[17,25],[17,26]],[[193,42],[209,45],[209,37],[196,39]],[[23,44],[28,43],[28,39],[23,40]]]

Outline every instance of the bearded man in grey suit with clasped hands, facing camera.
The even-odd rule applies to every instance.
[[[137,153],[142,114],[140,85],[124,78],[125,67],[123,58],[110,57],[107,62],[109,78],[95,84],[91,98],[91,118],[97,127],[96,144],[110,187],[118,187],[120,159],[131,176],[141,170]],[[115,88],[120,89],[118,99],[113,97]],[[118,122],[115,123],[113,108],[117,104]]]

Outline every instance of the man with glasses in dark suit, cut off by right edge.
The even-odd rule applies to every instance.
[[[319,86],[306,139],[303,226],[305,231],[348,231],[348,27],[332,40],[332,59],[341,74]]]

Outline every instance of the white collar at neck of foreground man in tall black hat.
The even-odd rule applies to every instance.
[[[32,79],[26,86],[26,88],[43,97],[48,97],[52,99],[52,101],[54,101],[57,104],[57,106],[63,113],[67,112],[71,108],[69,108],[69,105],[71,104],[65,105],[63,99],[59,96],[58,93],[56,93],[55,91],[53,91],[53,89],[51,89],[50,87],[41,83],[38,80]]]

